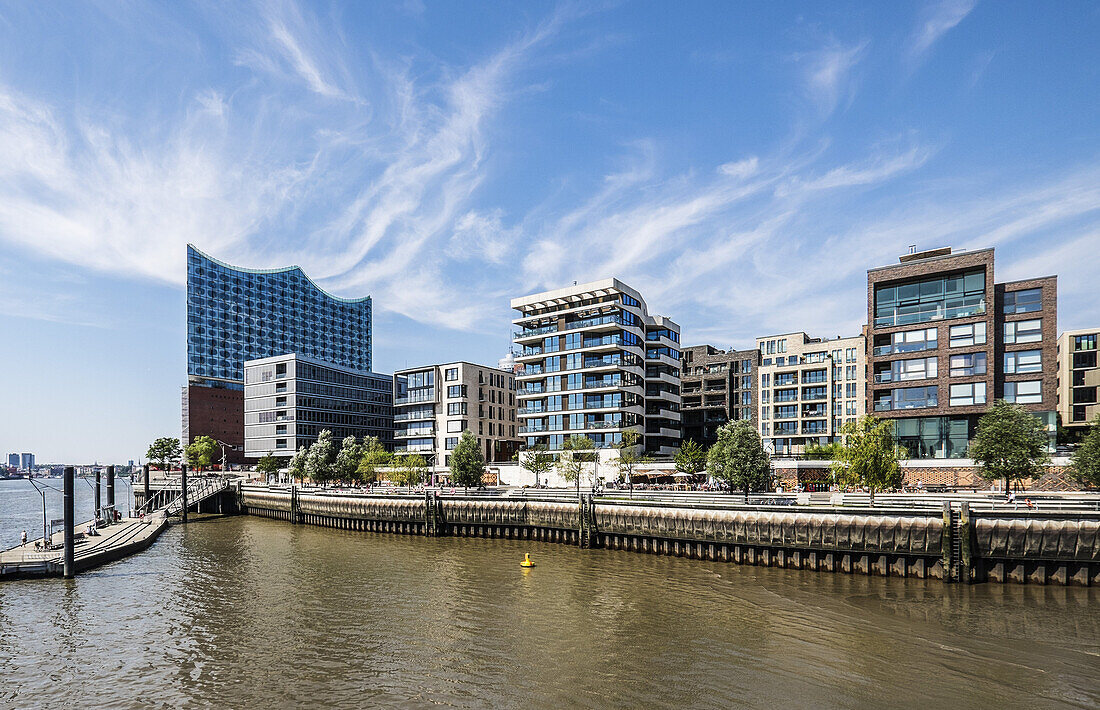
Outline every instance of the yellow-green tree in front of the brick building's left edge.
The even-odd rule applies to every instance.
[[[833,461],[833,473],[846,483],[866,485],[875,505],[876,490],[898,488],[902,481],[899,459],[904,450],[894,443],[893,424],[862,416],[840,432],[844,445]]]

